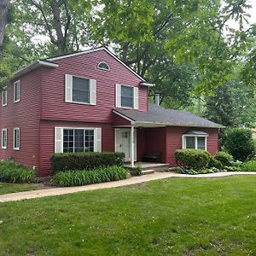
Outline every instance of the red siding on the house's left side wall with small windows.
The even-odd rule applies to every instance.
[[[16,80],[9,84],[7,106],[2,107],[0,97],[0,130],[8,129],[7,149],[0,147],[0,158],[12,157],[24,166],[38,167],[41,70],[20,77],[20,102],[14,103]],[[14,127],[20,127],[20,150],[13,149]]]

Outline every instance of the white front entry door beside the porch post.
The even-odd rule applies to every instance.
[[[137,160],[137,132],[134,131],[134,160]],[[131,129],[115,129],[115,152],[125,153],[125,161],[131,160]]]

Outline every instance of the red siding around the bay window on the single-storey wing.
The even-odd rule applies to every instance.
[[[193,128],[194,130],[205,131],[209,134],[207,137],[207,151],[211,154],[216,154],[218,151],[218,129],[211,128]],[[170,166],[176,166],[174,152],[176,149],[183,147],[182,136],[191,128],[186,127],[167,127],[166,128],[166,162]]]

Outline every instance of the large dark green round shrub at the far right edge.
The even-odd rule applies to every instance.
[[[243,128],[227,130],[224,148],[234,156],[235,160],[250,160],[256,153],[253,132]]]

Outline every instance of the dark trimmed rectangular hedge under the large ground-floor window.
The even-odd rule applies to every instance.
[[[53,154],[51,165],[54,172],[91,170],[98,167],[123,166],[124,153],[85,152]]]

